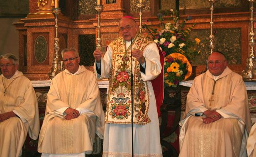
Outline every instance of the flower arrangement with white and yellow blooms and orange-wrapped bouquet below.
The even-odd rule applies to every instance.
[[[160,29],[144,25],[149,38],[160,46],[165,55],[164,78],[165,86],[176,87],[180,81],[186,80],[192,73],[192,67],[189,63],[190,58],[195,58],[200,51],[200,39],[191,40],[189,34],[196,24],[186,26],[186,21],[191,20],[188,16],[186,20],[178,23],[177,11],[160,10],[157,15],[160,22]],[[167,16],[167,22],[165,21]],[[169,17],[172,22],[169,22]]]

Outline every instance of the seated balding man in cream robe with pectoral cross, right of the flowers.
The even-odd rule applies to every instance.
[[[179,157],[246,157],[247,92],[221,52],[213,52],[208,71],[194,79],[180,125]]]

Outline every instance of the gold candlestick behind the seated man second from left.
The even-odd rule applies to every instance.
[[[59,58],[59,37],[58,37],[58,15],[60,13],[60,8],[53,8],[52,13],[55,17],[55,37],[54,37],[54,59],[53,59],[53,67],[52,71],[49,71],[48,75],[50,79],[53,79],[59,72],[64,70],[63,61],[60,61]]]

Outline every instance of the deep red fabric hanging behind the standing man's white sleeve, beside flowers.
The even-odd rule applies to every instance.
[[[155,101],[156,101],[156,107],[157,107],[157,113],[158,116],[161,115],[160,112],[160,106],[163,103],[164,99],[164,62],[165,62],[165,56],[163,52],[161,51],[160,47],[157,45],[160,55],[160,63],[162,66],[161,73],[159,76],[157,76],[154,80],[151,81],[154,93],[155,93]]]

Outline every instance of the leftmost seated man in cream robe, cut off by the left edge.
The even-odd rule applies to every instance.
[[[0,56],[0,157],[19,157],[27,137],[39,134],[37,97],[31,81],[18,71],[12,54]]]

